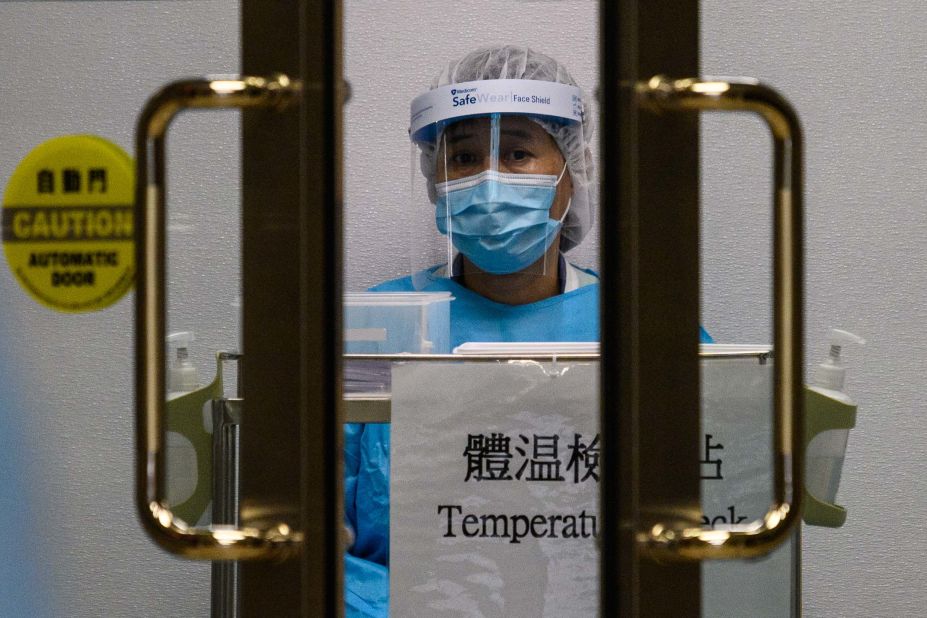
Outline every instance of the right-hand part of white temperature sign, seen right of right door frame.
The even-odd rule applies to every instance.
[[[699,466],[706,528],[749,524],[772,503],[773,363],[756,355],[702,360]],[[791,540],[765,558],[704,562],[702,615],[795,615],[795,567]]]

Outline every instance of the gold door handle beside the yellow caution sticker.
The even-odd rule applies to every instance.
[[[165,418],[165,136],[190,108],[284,109],[300,85],[285,75],[230,76],[168,84],[142,110],[136,129],[135,390],[136,501],[144,528],[166,550],[202,560],[284,558],[302,534],[286,524],[262,528],[193,528],[171,512],[166,497]]]

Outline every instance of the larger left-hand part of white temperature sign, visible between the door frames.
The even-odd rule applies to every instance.
[[[597,363],[393,369],[390,613],[593,616]]]

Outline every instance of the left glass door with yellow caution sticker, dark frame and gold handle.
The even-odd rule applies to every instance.
[[[337,8],[0,7],[0,613],[336,613]]]

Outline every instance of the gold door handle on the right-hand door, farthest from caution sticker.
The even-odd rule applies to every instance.
[[[657,524],[641,532],[658,557],[702,560],[751,558],[772,551],[798,523],[804,475],[802,393],[802,138],[798,116],[779,93],[755,80],[651,78],[636,86],[651,111],[749,111],[773,138],[773,344],[775,416],[773,504],[744,530],[705,530]]]

